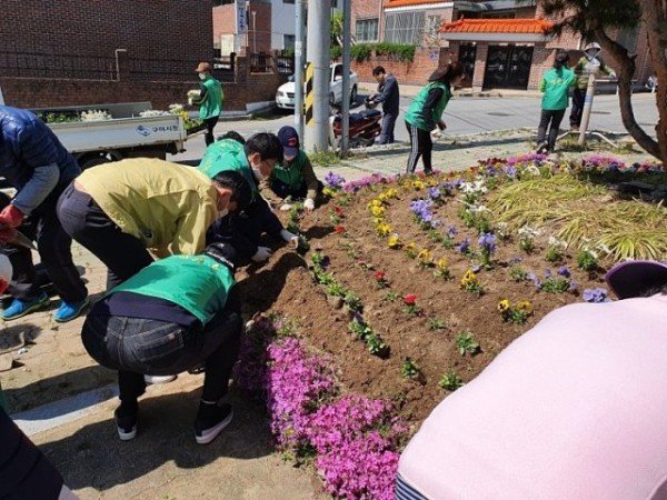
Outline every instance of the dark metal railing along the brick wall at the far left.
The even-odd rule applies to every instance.
[[[0,50],[3,77],[116,80],[116,59],[99,56],[53,56]]]

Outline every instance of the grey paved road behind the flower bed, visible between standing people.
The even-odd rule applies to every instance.
[[[396,124],[396,138],[408,141],[404,126],[402,113],[408,109],[411,98],[402,98],[400,103],[401,117]],[[658,121],[655,96],[636,94],[634,97],[635,116],[640,126],[649,133]],[[361,109],[361,108],[357,108]],[[536,98],[460,98],[452,99],[445,112],[448,132],[450,134],[468,134],[494,130],[516,129],[521,127],[537,128],[539,121],[540,101]],[[253,119],[221,122],[216,128],[217,133],[226,130],[237,130],[243,136],[255,132],[277,132],[280,127],[293,124],[291,114],[276,114],[268,119]],[[567,126],[567,117],[564,120]],[[616,96],[598,96],[594,102],[591,127],[611,132],[624,131]],[[186,144],[187,151],[171,157],[173,161],[198,160],[205,150],[203,137],[197,136]]]

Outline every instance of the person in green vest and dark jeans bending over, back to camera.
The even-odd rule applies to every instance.
[[[81,338],[101,366],[118,370],[118,436],[137,436],[145,374],[171,376],[206,364],[195,439],[211,442],[231,421],[227,394],[242,331],[233,249],[211,244],[196,256],[151,263],[92,308]]]

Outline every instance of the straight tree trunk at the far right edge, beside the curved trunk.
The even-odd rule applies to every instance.
[[[650,59],[659,83],[656,91],[659,158],[667,166],[667,0],[640,0],[640,4],[648,31]]]

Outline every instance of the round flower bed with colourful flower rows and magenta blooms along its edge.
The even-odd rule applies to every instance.
[[[328,176],[331,202],[299,219],[311,247],[306,262],[279,250],[261,279],[240,282],[246,312],[280,311],[299,324],[298,340],[270,337],[266,354],[245,357],[270,366],[272,374],[261,380],[275,388],[267,394],[281,449],[300,459],[315,457],[334,494],[381,498],[370,493],[372,481],[366,478],[381,481],[386,476],[378,470],[395,470],[397,456],[387,453],[399,449],[400,439],[387,432],[391,412],[418,426],[444,397],[551,310],[610,300],[603,278],[623,249],[600,244],[596,234],[624,228],[626,216],[665,210],[621,200],[609,189],[607,177],[623,169],[611,160],[558,164],[524,156],[487,160],[460,176],[371,176],[350,183]],[[649,164],[633,166],[628,173],[651,181],[664,176]],[[559,189],[547,191],[551,198],[544,213],[550,213],[551,203],[563,210],[568,203],[599,209],[600,200],[608,210],[626,211],[613,223],[585,219],[594,238],[586,231],[574,238],[561,232],[571,223],[567,218],[532,220],[528,213],[525,220],[507,220],[497,208],[507,199],[516,203],[508,206],[511,210],[526,199],[538,206],[536,193],[547,186]],[[591,220],[606,226],[597,231],[588,227]],[[651,237],[653,250],[646,244],[654,222],[650,217],[633,220],[629,240],[643,241],[634,244],[636,250],[666,259],[665,234]],[[382,356],[374,352],[374,339],[385,346]],[[310,348],[318,350],[317,361],[310,360]],[[239,372],[245,387],[245,370]],[[359,394],[364,398],[356,399]],[[380,419],[385,423],[352,424],[347,417],[375,414],[380,406],[387,410]],[[364,431],[356,430],[359,426]],[[364,440],[357,440],[361,434]]]

